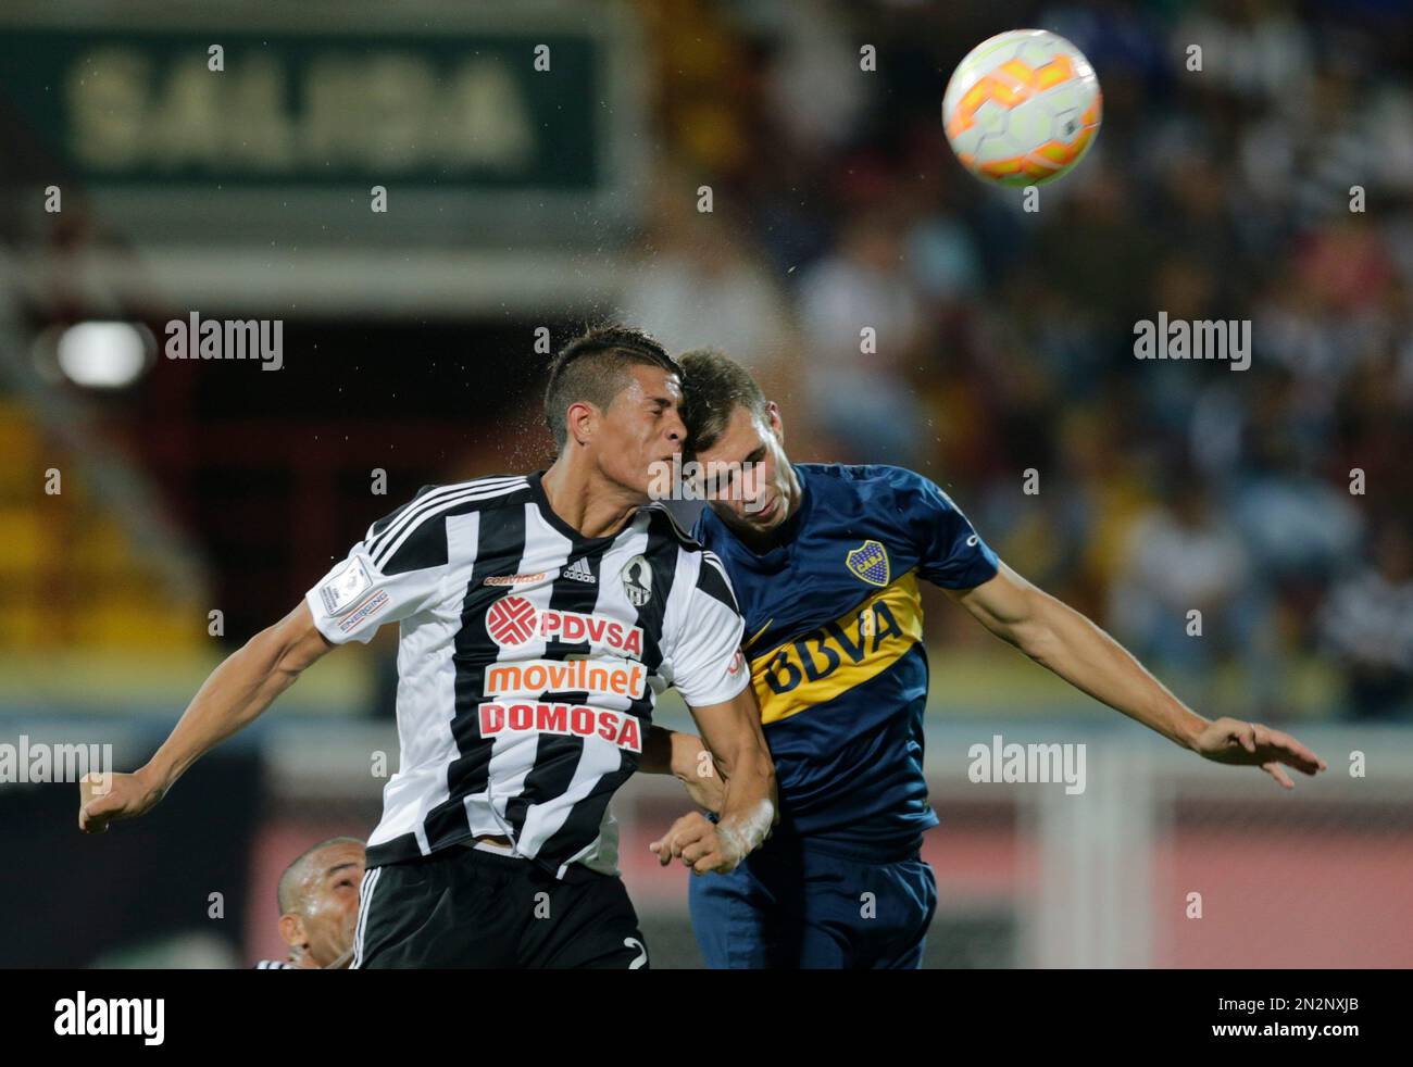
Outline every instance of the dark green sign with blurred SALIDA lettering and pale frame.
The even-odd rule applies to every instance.
[[[612,4],[7,3],[0,103],[137,240],[562,243],[640,199],[630,51]]]

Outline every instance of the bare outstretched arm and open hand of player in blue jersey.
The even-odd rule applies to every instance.
[[[947,592],[1036,663],[1205,759],[1258,766],[1286,789],[1294,783],[1282,765],[1306,774],[1325,769],[1323,759],[1287,733],[1241,719],[1202,718],[1113,637],[1005,564],[974,589]]]

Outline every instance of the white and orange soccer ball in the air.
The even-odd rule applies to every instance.
[[[1012,30],[972,48],[942,96],[947,140],[996,185],[1068,172],[1099,131],[1099,79],[1084,52],[1046,30]]]

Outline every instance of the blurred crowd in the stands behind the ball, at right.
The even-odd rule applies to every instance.
[[[958,7],[640,4],[666,151],[622,314],[749,363],[797,459],[931,475],[1186,695],[1235,671],[1279,718],[1316,664],[1328,709],[1413,715],[1413,13]],[[1020,25],[1105,95],[1036,212],[940,122]],[[1249,319],[1251,367],[1135,359],[1160,311]]]

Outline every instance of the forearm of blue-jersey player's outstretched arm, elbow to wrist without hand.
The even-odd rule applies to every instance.
[[[1075,688],[1191,748],[1207,719],[1174,697],[1132,653],[1068,605],[1036,591],[1037,606],[1015,644]]]

